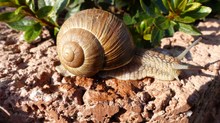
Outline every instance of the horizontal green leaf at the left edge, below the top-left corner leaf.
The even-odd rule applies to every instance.
[[[18,20],[21,20],[22,18],[24,18],[24,15],[19,13],[19,14],[15,14],[15,12],[5,12],[5,13],[0,13],[0,21],[3,22],[15,22]]]

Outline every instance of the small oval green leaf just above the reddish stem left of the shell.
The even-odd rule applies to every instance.
[[[53,9],[52,6],[44,6],[36,12],[36,15],[40,19],[45,18],[45,17],[49,16],[49,14],[52,12],[52,9]]]

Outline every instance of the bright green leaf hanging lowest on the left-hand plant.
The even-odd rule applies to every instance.
[[[25,33],[24,33],[24,39],[28,42],[31,43],[34,41],[42,31],[42,26],[39,23],[34,24],[33,26],[29,27]]]

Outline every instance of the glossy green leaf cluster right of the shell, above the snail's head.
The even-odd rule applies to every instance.
[[[150,41],[151,45],[160,44],[164,36],[172,36],[175,31],[191,35],[201,32],[191,23],[204,19],[211,13],[211,8],[202,6],[193,0],[140,0],[142,10],[135,15],[124,15],[124,21],[136,35],[136,41]],[[129,22],[129,23],[127,23]],[[131,23],[132,22],[132,23]],[[139,43],[143,46],[143,43]]]

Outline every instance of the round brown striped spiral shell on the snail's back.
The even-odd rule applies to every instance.
[[[120,19],[103,10],[88,9],[64,22],[57,36],[57,52],[70,73],[92,76],[128,64],[134,44]]]

